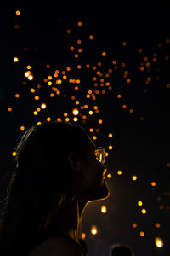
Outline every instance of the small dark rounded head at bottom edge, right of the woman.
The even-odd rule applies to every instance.
[[[134,256],[133,249],[126,244],[112,245],[110,256]]]

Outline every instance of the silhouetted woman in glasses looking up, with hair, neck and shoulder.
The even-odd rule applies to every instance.
[[[78,241],[90,201],[109,197],[105,148],[78,125],[32,125],[15,146],[0,230],[0,255],[86,255]]]

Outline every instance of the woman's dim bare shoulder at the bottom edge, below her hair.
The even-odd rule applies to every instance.
[[[51,237],[42,241],[29,256],[83,256],[76,244],[65,237]]]

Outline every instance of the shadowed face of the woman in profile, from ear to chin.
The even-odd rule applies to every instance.
[[[96,148],[96,145],[90,140],[85,160],[78,159],[73,153],[70,154],[70,165],[74,171],[74,188],[77,188],[77,195],[88,202],[106,199],[110,195],[105,182],[107,167],[96,158],[94,153]]]

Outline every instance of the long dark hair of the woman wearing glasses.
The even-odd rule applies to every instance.
[[[89,144],[82,126],[70,122],[43,121],[26,130],[14,148],[16,168],[0,226],[1,255],[24,255],[32,241],[52,226],[60,207],[71,203],[68,154],[74,151],[85,159]]]

